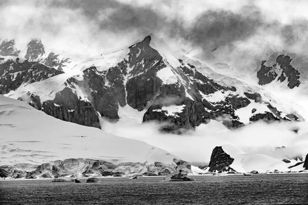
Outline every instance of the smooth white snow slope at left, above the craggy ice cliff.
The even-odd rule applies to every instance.
[[[71,163],[77,167],[79,163],[80,166],[84,165],[84,159],[88,158],[91,165],[104,161],[115,167],[124,162],[132,162],[131,166],[146,162],[145,172],[149,167],[156,168],[156,165],[170,167],[171,171],[175,169],[172,163],[176,156],[164,150],[99,129],[55,119],[23,101],[3,95],[0,95],[0,132],[0,165],[4,166],[0,168],[10,171],[25,171],[27,167],[33,171],[42,163],[54,161],[54,164],[56,160],[69,158],[76,159]],[[18,164],[23,166],[16,166]],[[70,171],[67,170],[67,173]]]

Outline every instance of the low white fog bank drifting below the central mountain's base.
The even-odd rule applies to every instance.
[[[182,135],[159,132],[158,122],[142,123],[137,118],[122,118],[117,124],[101,120],[102,130],[114,135],[144,141],[164,149],[181,159],[204,165],[216,146],[233,145],[251,154],[266,154],[277,159],[304,157],[308,153],[307,122],[267,122],[228,130],[211,120],[196,131]],[[298,133],[294,128],[299,129]],[[283,149],[275,149],[281,148]]]

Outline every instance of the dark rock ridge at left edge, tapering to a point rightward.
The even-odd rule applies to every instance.
[[[49,77],[63,73],[36,62],[25,60],[20,63],[19,59],[9,59],[4,63],[0,59],[0,94],[9,93],[22,84],[27,85],[36,81],[42,81]]]

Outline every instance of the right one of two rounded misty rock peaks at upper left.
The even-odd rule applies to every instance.
[[[25,58],[29,61],[36,61],[45,54],[45,47],[41,39],[31,39],[28,43],[27,53]]]

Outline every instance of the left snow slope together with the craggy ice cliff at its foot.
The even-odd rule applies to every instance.
[[[0,130],[0,177],[160,175],[175,171],[182,161],[144,142],[55,119],[3,95]]]

